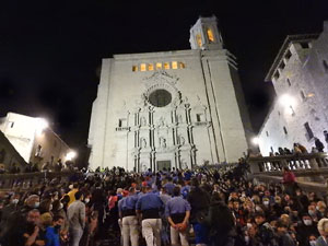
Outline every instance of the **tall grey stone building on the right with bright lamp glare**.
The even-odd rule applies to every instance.
[[[263,155],[301,143],[311,151],[315,137],[326,145],[328,130],[328,22],[319,35],[288,36],[266,78],[277,94],[260,131]],[[326,145],[327,151],[327,145]]]

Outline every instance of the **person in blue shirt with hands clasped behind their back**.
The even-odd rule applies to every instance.
[[[171,243],[173,246],[181,244],[189,245],[187,225],[191,207],[187,200],[180,196],[178,186],[173,189],[173,198],[165,206],[165,215],[171,224]]]

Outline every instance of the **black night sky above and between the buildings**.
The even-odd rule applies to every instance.
[[[263,78],[283,39],[319,33],[327,0],[2,1],[0,116],[43,116],[71,147],[85,145],[101,59],[189,49],[190,26],[212,14],[258,129],[273,96]]]

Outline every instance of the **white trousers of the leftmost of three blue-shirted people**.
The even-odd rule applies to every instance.
[[[130,245],[138,246],[139,245],[139,230],[138,230],[138,219],[136,215],[133,216],[125,216],[122,219],[122,238],[124,238],[124,246]]]

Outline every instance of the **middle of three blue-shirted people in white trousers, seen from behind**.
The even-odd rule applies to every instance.
[[[148,246],[161,246],[162,220],[160,212],[164,206],[161,198],[147,187],[147,194],[137,201],[137,213],[142,218],[142,234]]]

